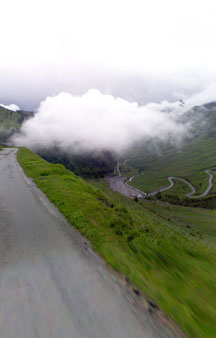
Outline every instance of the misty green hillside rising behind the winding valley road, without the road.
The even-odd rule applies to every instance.
[[[206,190],[209,177],[204,170],[216,168],[216,103],[195,107],[185,118],[189,120],[196,114],[198,120],[194,124],[194,137],[187,140],[182,148],[161,145],[154,151],[153,146],[149,149],[145,145],[139,145],[133,149],[127,162],[131,166],[131,172],[134,168],[139,171],[139,175],[131,183],[133,186],[151,192],[169,185],[168,176],[178,176],[189,180],[198,194]],[[198,118],[200,114],[202,118]],[[124,169],[124,165],[122,167]],[[169,194],[177,195],[181,199],[186,192],[188,187],[184,183],[177,183],[169,190]]]

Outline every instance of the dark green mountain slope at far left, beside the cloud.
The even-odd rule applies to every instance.
[[[0,106],[0,142],[7,142],[8,138],[20,129],[23,121],[32,116],[33,112],[13,111]]]

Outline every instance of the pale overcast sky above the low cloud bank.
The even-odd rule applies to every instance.
[[[215,0],[1,2],[0,103],[97,88],[140,103],[216,82]],[[216,97],[215,97],[216,99]]]

